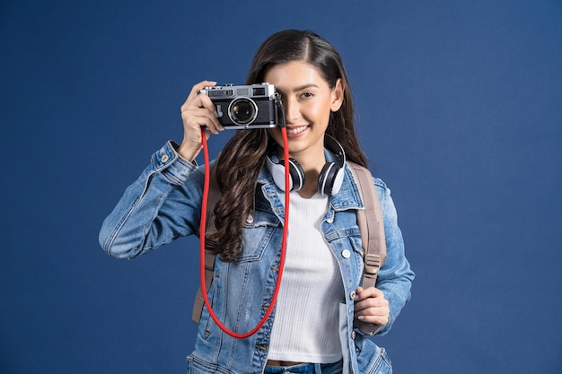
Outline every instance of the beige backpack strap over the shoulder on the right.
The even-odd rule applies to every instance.
[[[361,243],[364,253],[363,288],[374,287],[379,270],[386,258],[386,240],[384,239],[384,222],[382,221],[381,203],[373,183],[371,172],[347,161],[349,170],[359,186],[359,193],[364,210],[357,210],[357,225],[361,231]]]

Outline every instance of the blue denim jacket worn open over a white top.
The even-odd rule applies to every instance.
[[[326,153],[329,161],[333,155]],[[183,160],[173,144],[155,152],[151,164],[131,186],[101,227],[100,243],[110,256],[133,258],[181,236],[198,235],[203,167]],[[384,335],[410,297],[414,278],[404,255],[391,192],[374,179],[384,221],[387,257],[376,287],[389,301],[391,315],[376,335]],[[330,197],[321,231],[342,275],[346,300],[340,304],[340,339],[344,373],[390,373],[383,348],[354,329],[355,290],[361,284],[363,253],[356,209],[363,209],[358,187],[349,170],[337,195]],[[268,309],[276,285],[284,221],[283,193],[268,171],[259,175],[255,211],[243,228],[241,254],[232,263],[215,262],[215,276],[207,295],[225,326],[238,333],[255,327]],[[329,282],[329,280],[326,280]],[[195,351],[188,357],[189,373],[262,373],[275,310],[255,335],[235,339],[224,334],[206,308],[198,326]]]

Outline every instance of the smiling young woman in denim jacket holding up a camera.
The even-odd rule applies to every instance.
[[[383,348],[368,336],[383,335],[410,297],[414,274],[404,255],[390,190],[374,179],[382,206],[387,257],[376,287],[360,286],[363,254],[356,209],[363,208],[347,167],[333,189],[319,187],[324,165],[338,162],[334,142],[348,161],[366,167],[354,126],[344,65],[326,40],[310,31],[270,36],[250,66],[247,84],[268,82],[280,94],[288,152],[302,167],[303,187],[290,192],[285,270],[273,313],[257,334],[227,335],[205,308],[189,373],[391,373]],[[205,136],[223,131],[215,105],[193,86],[181,107],[183,141],[155,152],[103,222],[101,246],[131,258],[180,236],[198,234],[203,167],[195,157]],[[229,329],[258,325],[272,300],[279,271],[285,186],[271,170],[283,157],[278,127],[239,130],[214,162],[222,196],[206,248],[218,254],[207,295]],[[273,165],[273,166],[272,166]],[[342,323],[343,321],[343,323]]]

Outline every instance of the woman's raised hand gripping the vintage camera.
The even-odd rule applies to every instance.
[[[213,87],[216,82],[203,81],[197,83],[189,92],[188,99],[181,106],[181,120],[183,121],[183,141],[178,152],[181,157],[193,161],[203,146],[201,139],[201,128],[205,128],[205,136],[208,139],[211,133],[217,135],[224,127],[216,118],[215,104],[199,90],[205,87]]]

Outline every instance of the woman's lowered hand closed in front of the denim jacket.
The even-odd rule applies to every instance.
[[[381,290],[357,287],[355,302],[356,326],[365,334],[372,334],[389,322],[391,309]]]

